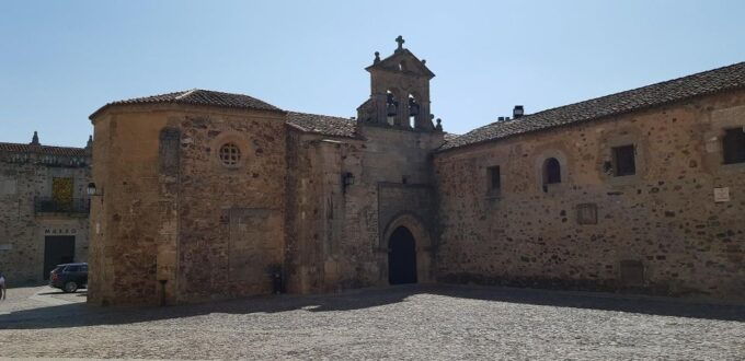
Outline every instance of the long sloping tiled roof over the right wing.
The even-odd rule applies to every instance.
[[[445,143],[448,150],[568,124],[595,120],[695,96],[745,88],[745,62],[570,104],[518,119],[496,121]]]

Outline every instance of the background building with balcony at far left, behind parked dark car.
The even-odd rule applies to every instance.
[[[91,147],[0,143],[0,269],[10,286],[88,259]]]

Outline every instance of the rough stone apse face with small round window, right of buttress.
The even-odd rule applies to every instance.
[[[182,300],[272,293],[284,261],[283,114],[172,117],[181,135],[179,277]],[[222,144],[241,158],[226,166]]]

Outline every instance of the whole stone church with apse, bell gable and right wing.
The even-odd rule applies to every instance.
[[[398,42],[355,118],[205,90],[91,115],[89,302],[437,281],[743,299],[745,63],[456,137]]]

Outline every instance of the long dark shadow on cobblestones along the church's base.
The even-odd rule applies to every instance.
[[[611,293],[573,293],[449,284],[404,284],[385,289],[354,290],[337,294],[283,294],[167,307],[100,307],[84,303],[73,303],[0,314],[0,329],[119,325],[192,317],[210,313],[252,314],[296,310],[305,310],[307,312],[353,311],[406,302],[409,296],[417,294],[436,294],[489,302],[745,322],[745,305],[691,303],[662,298],[629,298]]]

